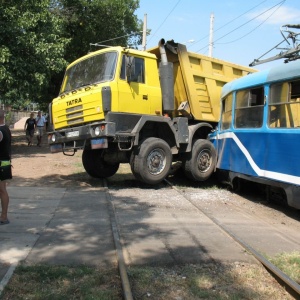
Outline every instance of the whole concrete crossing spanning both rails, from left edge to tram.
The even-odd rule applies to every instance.
[[[173,189],[115,188],[107,193],[103,188],[10,186],[8,191],[10,224],[0,226],[0,292],[24,260],[27,264],[116,267],[110,205],[128,265],[257,263]],[[263,253],[299,249],[298,232],[282,231],[226,204],[229,192],[186,193]],[[220,199],[227,200],[224,204]]]

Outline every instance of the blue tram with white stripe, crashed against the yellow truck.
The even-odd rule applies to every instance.
[[[300,60],[226,84],[221,105],[209,139],[223,181],[263,183],[300,209]]]

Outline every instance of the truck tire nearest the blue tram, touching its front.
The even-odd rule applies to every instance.
[[[205,181],[214,172],[216,150],[208,140],[197,140],[192,151],[182,161],[185,175],[195,181]]]

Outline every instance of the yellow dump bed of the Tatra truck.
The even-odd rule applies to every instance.
[[[197,121],[218,122],[221,89],[225,83],[256,70],[188,52],[185,45],[169,41],[166,55],[173,63],[175,115],[187,115]],[[159,47],[147,50],[160,62]]]

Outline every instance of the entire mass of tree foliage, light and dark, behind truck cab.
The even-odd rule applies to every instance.
[[[48,104],[90,44],[140,44],[139,0],[0,0],[0,100]]]

